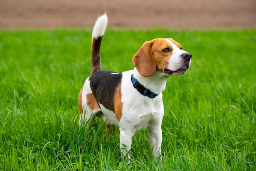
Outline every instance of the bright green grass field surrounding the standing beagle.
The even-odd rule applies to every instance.
[[[0,31],[0,170],[256,171],[256,29],[107,29],[103,69],[132,70],[143,42],[160,37],[181,43],[192,66],[163,92],[162,161],[143,130],[127,162],[101,119],[78,126],[91,30]]]

